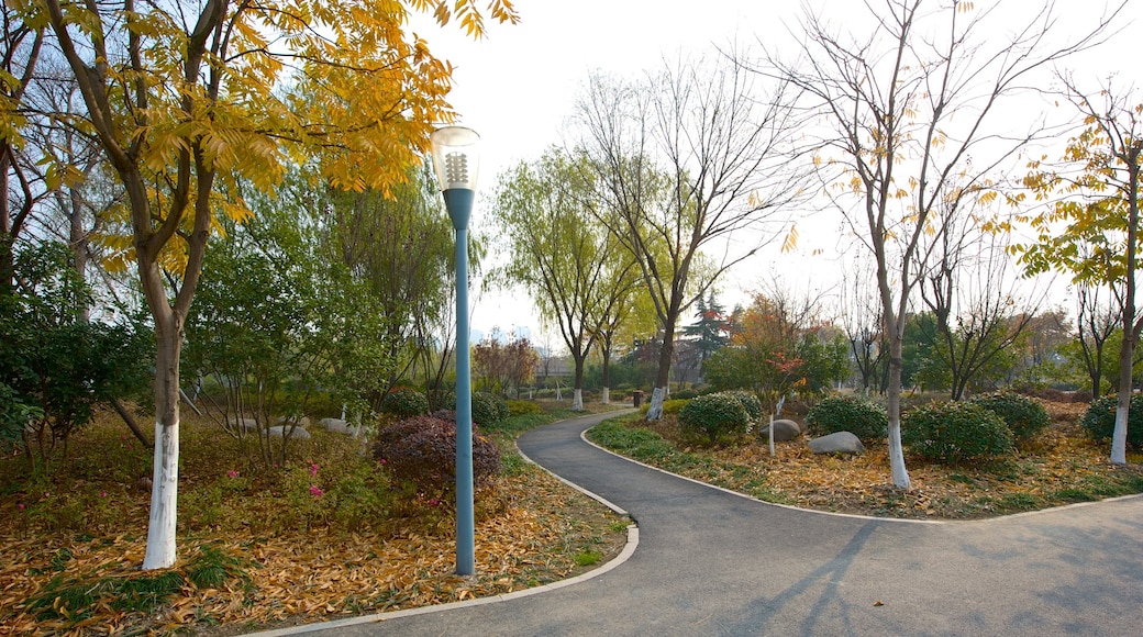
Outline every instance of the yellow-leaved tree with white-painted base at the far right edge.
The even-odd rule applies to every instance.
[[[1064,86],[1084,128],[1068,144],[1063,166],[1037,162],[1025,179],[1038,197],[1054,203],[1029,217],[1038,237],[1023,248],[1021,259],[1030,273],[1056,269],[1071,274],[1080,285],[1111,289],[1122,330],[1111,461],[1122,465],[1127,462],[1133,363],[1143,331],[1136,281],[1143,103],[1130,90],[1104,87],[1088,95],[1071,78],[1064,78]]]

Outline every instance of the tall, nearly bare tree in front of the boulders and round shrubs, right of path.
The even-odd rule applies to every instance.
[[[885,0],[842,27],[806,11],[801,59],[768,56],[765,74],[802,90],[826,194],[873,256],[889,345],[889,461],[910,486],[901,446],[902,344],[925,263],[921,239],[934,211],[959,210],[1045,135],[1042,118],[1005,130],[1004,111],[1026,95],[1038,70],[1094,43],[1110,18],[1049,48],[1053,7],[1026,5],[1014,21],[1000,5],[977,10],[952,0]]]

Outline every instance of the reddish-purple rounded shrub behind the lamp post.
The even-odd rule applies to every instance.
[[[456,486],[455,422],[416,416],[384,426],[377,432],[374,457],[384,461],[393,477],[413,483],[419,492],[451,491]],[[473,482],[488,484],[499,467],[499,447],[473,429]]]

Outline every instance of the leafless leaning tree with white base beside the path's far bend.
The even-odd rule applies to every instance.
[[[802,193],[786,84],[765,95],[736,65],[680,59],[644,81],[591,79],[577,114],[607,210],[636,257],[662,329],[648,419],[662,416],[682,313],[773,240]],[[700,268],[704,250],[721,250]]]

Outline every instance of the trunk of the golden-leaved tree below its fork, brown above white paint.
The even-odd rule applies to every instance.
[[[178,356],[182,325],[169,312],[155,320],[154,371],[154,473],[151,485],[151,519],[147,526],[143,570],[175,564],[175,524],[178,501]]]

